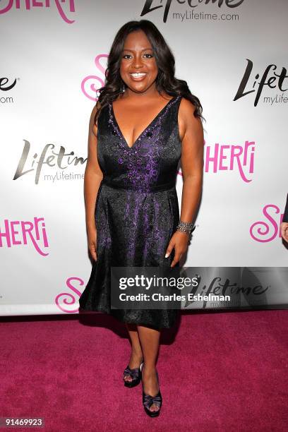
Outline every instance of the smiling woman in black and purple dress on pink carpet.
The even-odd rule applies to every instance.
[[[202,107],[153,23],[131,21],[117,32],[106,83],[90,117],[85,208],[94,259],[80,308],[103,311],[126,324],[131,356],[124,385],[142,379],[143,406],[157,416],[162,395],[156,359],[160,330],[177,311],[110,308],[110,266],[179,265],[187,250],[203,180]],[[203,117],[202,117],[203,118]],[[176,194],[181,158],[184,187]]]

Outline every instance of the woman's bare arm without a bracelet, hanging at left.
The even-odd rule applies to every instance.
[[[95,224],[95,203],[100,182],[103,178],[103,173],[97,159],[97,126],[94,124],[94,117],[99,105],[93,109],[89,122],[88,134],[88,160],[85,168],[84,176],[84,197],[85,197],[85,213],[86,227],[88,232],[88,246],[92,258],[97,260],[96,251],[96,224]]]

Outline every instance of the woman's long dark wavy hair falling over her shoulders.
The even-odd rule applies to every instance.
[[[98,89],[100,92],[98,101],[100,102],[97,106],[97,112],[95,114],[95,124],[102,108],[104,108],[109,102],[113,102],[123,91],[123,87],[126,88],[124,81],[120,75],[120,64],[121,54],[124,49],[124,43],[127,35],[130,32],[136,30],[143,30],[145,35],[148,37],[152,50],[155,56],[155,61],[158,68],[157,78],[155,80],[156,88],[160,94],[167,92],[172,97],[181,95],[186,99],[190,100],[195,106],[194,116],[204,119],[202,116],[202,105],[200,100],[195,95],[192,95],[188,88],[188,84],[184,80],[175,78],[175,59],[169,48],[164,37],[157,29],[156,25],[150,20],[139,20],[139,21],[128,21],[128,23],[122,25],[122,27],[116,33],[112,47],[109,52],[107,69],[105,71],[105,83],[104,87]]]

